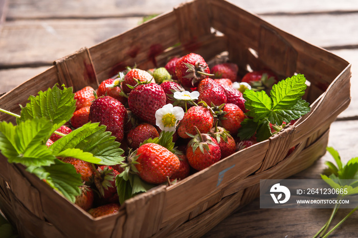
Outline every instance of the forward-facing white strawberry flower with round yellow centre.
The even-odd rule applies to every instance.
[[[176,122],[182,120],[183,117],[183,108],[173,107],[173,105],[169,103],[155,111],[155,124],[162,131],[175,131]]]

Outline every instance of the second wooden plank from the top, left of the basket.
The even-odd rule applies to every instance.
[[[52,64],[81,47],[91,47],[136,27],[141,19],[5,22],[0,38],[0,68]]]

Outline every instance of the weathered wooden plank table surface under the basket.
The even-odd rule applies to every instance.
[[[182,0],[0,0],[0,93],[41,73],[52,62],[138,25],[143,16],[172,10]],[[232,3],[352,63],[351,104],[331,125],[329,146],[343,160],[358,156],[358,1],[234,0]],[[1,106],[1,105],[0,105]],[[319,122],[317,122],[319,123]],[[324,155],[293,178],[319,179]],[[330,209],[260,209],[233,213],[205,237],[310,237]],[[341,209],[337,223],[349,212]],[[358,237],[358,212],[331,237]]]

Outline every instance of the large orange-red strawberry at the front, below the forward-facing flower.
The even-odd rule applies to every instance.
[[[148,183],[164,183],[180,166],[176,155],[165,147],[154,143],[140,146],[137,156],[136,169],[139,176]]]

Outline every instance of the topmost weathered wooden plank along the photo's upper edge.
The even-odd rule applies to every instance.
[[[130,15],[150,15],[171,11],[183,0],[102,0],[102,1],[36,1],[13,0],[10,3],[8,19],[21,18],[93,18]],[[327,11],[357,11],[358,4],[354,1],[328,0],[324,4],[319,1],[245,1],[231,0],[230,2],[256,13],[302,13]]]

